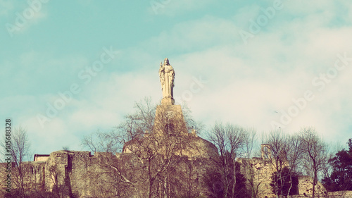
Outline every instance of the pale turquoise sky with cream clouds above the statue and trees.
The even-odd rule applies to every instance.
[[[135,101],[176,104],[196,120],[326,142],[352,138],[349,0],[0,0],[0,118],[50,154],[111,130]],[[203,135],[204,136],[204,135]]]

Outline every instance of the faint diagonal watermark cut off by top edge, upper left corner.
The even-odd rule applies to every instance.
[[[13,37],[14,32],[20,31],[24,28],[34,16],[42,10],[43,4],[48,3],[49,0],[28,0],[27,8],[25,8],[22,13],[15,13],[15,22],[6,23],[5,27],[10,37]]]

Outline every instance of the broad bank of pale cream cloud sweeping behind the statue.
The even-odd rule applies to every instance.
[[[164,9],[169,13],[161,14],[172,15],[180,9],[198,8],[194,2],[182,2],[170,1]],[[89,85],[80,83],[82,92],[74,95],[44,129],[35,115],[45,114],[46,102],[52,103],[58,99],[56,92],[68,90],[67,85],[80,81],[77,73],[90,64],[88,58],[82,56],[53,58],[54,55],[27,52],[15,63],[19,72],[15,69],[6,72],[21,74],[17,87],[25,86],[20,86],[23,79],[29,84],[30,80],[44,75],[50,79],[65,78],[54,84],[66,85],[36,97],[18,94],[4,98],[1,106],[10,101],[18,106],[8,109],[18,123],[30,130],[35,141],[46,145],[38,147],[39,151],[45,150],[44,147],[54,151],[65,144],[77,145],[83,134],[117,125],[125,113],[133,111],[134,101],[146,96],[158,101],[161,98],[158,64],[166,56],[176,72],[175,97],[182,98],[182,94],[190,91],[194,78],[206,80],[199,92],[192,92],[187,103],[194,117],[208,126],[215,120],[222,120],[253,126],[258,131],[271,130],[270,122],[279,122],[281,110],[287,111],[294,105],[292,99],[303,97],[306,90],[312,90],[315,99],[292,118],[285,130],[293,132],[313,125],[326,139],[338,139],[351,127],[352,118],[348,115],[352,109],[349,102],[352,94],[348,90],[352,89],[352,63],[322,92],[312,85],[312,80],[334,66],[337,54],[346,51],[347,56],[352,57],[352,28],[331,26],[337,11],[330,1],[304,2],[284,1],[284,8],[268,28],[263,28],[248,44],[244,44],[238,31],[239,27],[248,25],[249,18],[256,18],[258,6],[254,4],[240,9],[231,19],[204,16],[177,23],[157,37],[122,50],[122,55]],[[212,3],[206,1],[204,4]],[[325,8],[330,9],[325,11]],[[297,18],[288,20],[287,14]],[[66,79],[68,75],[70,78]],[[340,136],[333,135],[332,131]]]

